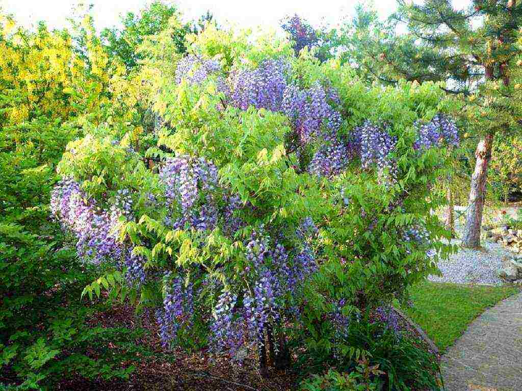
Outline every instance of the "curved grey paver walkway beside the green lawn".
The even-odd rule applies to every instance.
[[[447,391],[522,391],[522,294],[474,320],[442,358]]]

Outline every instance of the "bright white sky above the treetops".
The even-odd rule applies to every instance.
[[[66,19],[73,15],[74,7],[81,0],[0,0],[0,8],[13,14],[23,26],[45,20],[50,28],[67,27]],[[346,16],[353,14],[360,0],[177,0],[184,19],[197,19],[210,10],[221,26],[232,23],[242,28],[277,27],[279,21],[298,13],[313,26],[323,23],[333,26]],[[137,12],[150,0],[84,0],[93,4],[96,27],[118,25],[120,15],[127,11]],[[387,17],[396,8],[395,0],[375,0],[375,7],[382,17]],[[469,0],[454,0],[456,6],[468,4]],[[228,22],[228,23],[227,23]]]

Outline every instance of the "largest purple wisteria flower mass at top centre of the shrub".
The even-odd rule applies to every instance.
[[[338,174],[353,157],[349,145],[338,131],[342,117],[335,106],[340,104],[333,88],[315,83],[309,89],[287,83],[289,64],[282,60],[265,60],[258,68],[235,71],[230,76],[231,104],[246,110],[250,106],[265,108],[288,116],[300,147],[321,140],[310,162],[311,173],[321,176]]]

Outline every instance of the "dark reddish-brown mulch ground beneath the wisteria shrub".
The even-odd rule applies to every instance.
[[[431,351],[438,359],[438,352],[426,342],[422,331],[411,324],[399,312],[399,329],[413,337],[420,347]],[[256,368],[256,360],[249,357],[238,368],[227,359],[211,359],[205,352],[188,354],[181,349],[167,351],[161,347],[156,322],[152,315],[135,315],[130,306],[117,306],[96,313],[90,320],[92,326],[148,329],[143,339],[135,341],[158,353],[152,357],[138,359],[133,363],[136,370],[128,380],[97,380],[85,378],[63,380],[57,390],[63,391],[290,391],[298,388],[297,376],[289,371],[272,371],[268,377],[261,377]]]

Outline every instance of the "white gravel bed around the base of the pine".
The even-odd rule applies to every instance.
[[[459,245],[460,240],[453,240],[452,243]],[[429,276],[428,279],[444,283],[502,285],[503,281],[499,278],[502,258],[513,256],[513,253],[497,243],[484,241],[482,246],[481,250],[460,248],[448,260],[438,262],[442,277]]]

